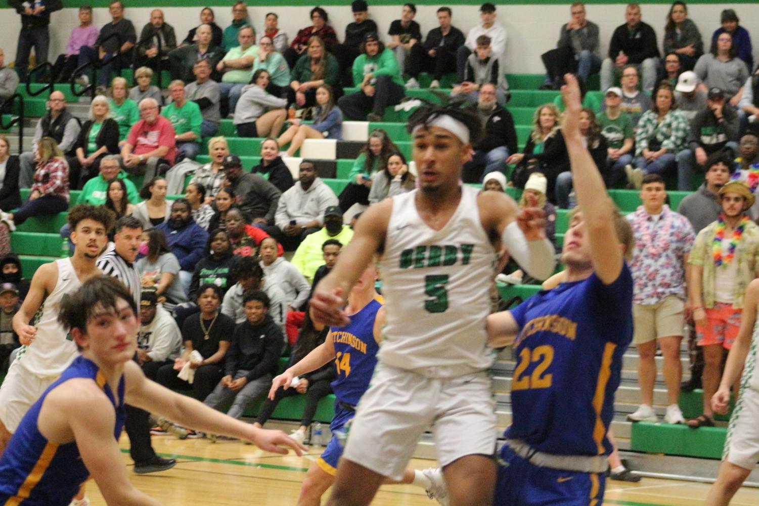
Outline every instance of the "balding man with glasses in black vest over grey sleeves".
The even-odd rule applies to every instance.
[[[37,143],[43,137],[52,137],[66,156],[74,156],[74,143],[79,137],[80,123],[66,108],[66,98],[63,93],[50,93],[47,102],[48,112],[37,122],[32,140],[32,150],[19,156],[20,174],[18,185],[21,188],[32,186],[34,168],[36,166]]]

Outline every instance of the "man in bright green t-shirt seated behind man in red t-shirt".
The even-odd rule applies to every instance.
[[[172,102],[166,105],[161,115],[168,119],[174,127],[177,143],[177,159],[194,159],[200,152],[200,125],[203,124],[203,115],[200,107],[191,100],[187,100],[184,93],[184,82],[173,80],[168,85],[168,93]]]

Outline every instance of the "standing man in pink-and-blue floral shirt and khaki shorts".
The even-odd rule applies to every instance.
[[[641,186],[643,205],[628,215],[635,236],[632,256],[632,316],[638,347],[638,385],[641,406],[628,415],[633,422],[658,422],[653,410],[653,383],[657,378],[654,360],[657,344],[664,357],[663,375],[668,401],[664,421],[685,423],[678,407],[682,363],[680,341],[685,324],[685,272],[688,253],[696,234],[688,218],[664,203],[666,190],[660,174],[647,174]]]

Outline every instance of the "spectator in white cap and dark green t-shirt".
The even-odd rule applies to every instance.
[[[606,138],[609,155],[606,156],[606,187],[611,188],[625,180],[625,165],[632,163],[632,145],[635,128],[626,112],[622,112],[622,90],[612,86],[606,90],[606,111],[598,115],[601,135]]]

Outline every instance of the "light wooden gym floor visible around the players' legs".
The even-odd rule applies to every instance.
[[[171,435],[153,437],[153,447],[163,457],[174,457],[177,465],[162,473],[131,473],[129,442],[121,438],[124,463],[137,489],[166,506],[294,506],[301,481],[311,459],[323,448],[311,447],[308,457],[266,454],[252,445],[236,441],[211,443],[207,439],[181,441]],[[411,460],[411,467],[424,469],[433,460]],[[605,504],[623,506],[695,506],[703,504],[709,485],[671,479],[644,478],[638,483],[606,481]],[[327,492],[329,494],[329,491]],[[87,495],[94,506],[106,504],[93,482]],[[437,506],[424,491],[414,486],[383,486],[372,504],[376,506]],[[744,488],[735,495],[733,506],[759,504],[759,489]]]

